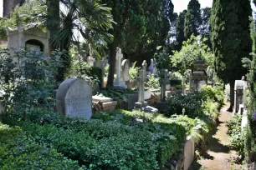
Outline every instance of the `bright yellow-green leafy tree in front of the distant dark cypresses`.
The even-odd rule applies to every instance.
[[[192,68],[192,64],[198,59],[204,59],[208,65],[213,67],[213,55],[205,42],[206,38],[200,41],[200,37],[192,35],[187,42],[183,42],[182,50],[180,52],[174,52],[171,56],[171,61],[174,67],[177,67],[182,75],[185,74],[187,69]]]

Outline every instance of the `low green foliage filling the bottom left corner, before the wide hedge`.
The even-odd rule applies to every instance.
[[[35,143],[20,128],[9,128],[1,122],[0,143],[2,169],[85,169],[54,148]]]

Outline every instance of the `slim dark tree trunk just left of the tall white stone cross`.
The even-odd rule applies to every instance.
[[[117,46],[115,45],[115,38],[114,38],[113,42],[110,44],[110,57],[109,57],[110,68],[109,68],[107,87],[113,86],[113,82],[114,82],[116,47]]]

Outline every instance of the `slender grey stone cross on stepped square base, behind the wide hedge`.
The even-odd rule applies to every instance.
[[[142,108],[146,107],[147,102],[144,101],[144,82],[146,81],[146,60],[142,62],[141,70],[139,71],[139,77],[136,78],[136,81],[139,86],[139,97],[138,102],[136,102],[136,107]]]

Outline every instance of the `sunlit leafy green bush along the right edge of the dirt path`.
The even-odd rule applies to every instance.
[[[227,122],[228,127],[228,135],[229,143],[228,147],[232,148],[233,150],[238,152],[238,155],[244,158],[244,139],[245,139],[245,131],[244,129],[241,130],[241,122],[242,116],[236,114],[232,117],[232,119]]]

